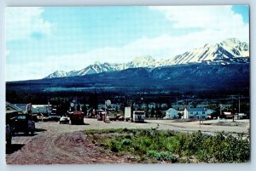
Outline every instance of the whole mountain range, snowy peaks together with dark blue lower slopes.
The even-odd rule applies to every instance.
[[[123,64],[95,63],[80,71],[6,83],[7,93],[249,94],[247,43],[231,38],[167,60],[137,57]]]

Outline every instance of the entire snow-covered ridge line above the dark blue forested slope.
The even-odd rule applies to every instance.
[[[154,60],[151,56],[136,57],[131,62],[99,63],[87,66],[80,71],[55,71],[45,78],[84,76],[108,71],[121,71],[128,68],[174,66],[189,63],[207,63],[208,65],[229,65],[230,63],[249,62],[249,46],[236,38],[229,38],[221,43],[206,44],[167,60]]]

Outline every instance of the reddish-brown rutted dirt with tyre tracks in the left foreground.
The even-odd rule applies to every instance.
[[[111,151],[94,145],[80,132],[35,136],[19,151],[7,154],[8,164],[84,164],[129,163],[128,157],[117,157]]]

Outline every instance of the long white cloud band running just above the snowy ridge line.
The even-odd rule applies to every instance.
[[[22,65],[9,64],[7,65],[7,80],[40,79],[57,70],[80,70],[96,61],[121,63],[144,55],[151,55],[156,60],[172,58],[206,43],[219,43],[229,37],[236,37],[236,34],[227,35],[226,31],[206,30],[179,37],[168,35],[151,39],[144,37],[121,48],[98,48],[84,54],[48,56],[40,62],[28,62]]]

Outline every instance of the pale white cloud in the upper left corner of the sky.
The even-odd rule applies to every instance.
[[[25,39],[32,33],[49,35],[53,24],[44,20],[40,7],[8,7],[6,10],[6,39]]]

